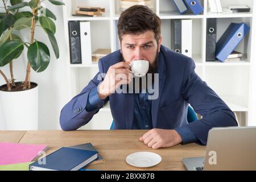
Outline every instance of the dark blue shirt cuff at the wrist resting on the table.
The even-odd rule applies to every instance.
[[[177,133],[180,135],[182,142],[181,144],[198,142],[196,135],[189,129],[188,127],[178,127],[175,129]]]

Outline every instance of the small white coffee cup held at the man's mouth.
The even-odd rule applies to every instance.
[[[134,76],[142,77],[147,74],[149,63],[146,60],[135,60],[130,62],[130,67]]]

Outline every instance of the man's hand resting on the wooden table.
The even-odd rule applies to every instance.
[[[152,129],[147,131],[141,138],[144,144],[153,149],[172,147],[182,142],[180,135],[175,130]]]

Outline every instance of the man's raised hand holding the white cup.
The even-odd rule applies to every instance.
[[[122,84],[130,84],[133,79],[133,72],[130,71],[130,65],[124,61],[109,67],[108,72],[98,87],[98,96],[105,99],[114,93]]]

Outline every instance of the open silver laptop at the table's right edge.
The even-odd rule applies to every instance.
[[[184,158],[189,171],[256,170],[256,127],[215,127],[205,157]]]

